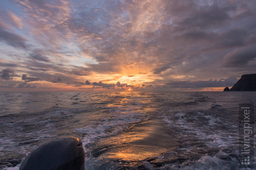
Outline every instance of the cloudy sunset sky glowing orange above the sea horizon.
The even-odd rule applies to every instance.
[[[256,73],[255,0],[1,0],[0,91],[223,91]]]

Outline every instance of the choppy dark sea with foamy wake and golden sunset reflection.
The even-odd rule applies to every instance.
[[[236,169],[238,104],[255,96],[0,92],[0,169],[19,169],[36,146],[67,135],[82,139],[88,170]]]

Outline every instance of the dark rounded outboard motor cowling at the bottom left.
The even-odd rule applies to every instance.
[[[58,137],[34,149],[20,170],[84,170],[84,148],[75,137]]]

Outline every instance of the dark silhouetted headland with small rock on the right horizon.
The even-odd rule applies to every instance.
[[[256,91],[256,74],[242,75],[231,89],[226,87],[223,91]]]

